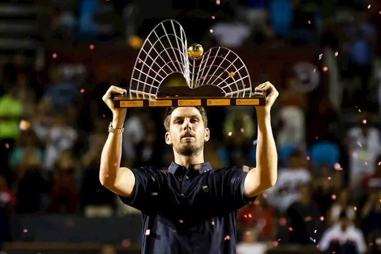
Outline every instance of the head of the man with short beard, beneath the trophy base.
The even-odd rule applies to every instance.
[[[178,154],[197,155],[203,151],[209,133],[197,108],[179,107],[171,114],[170,130],[165,133],[165,142],[172,145]]]

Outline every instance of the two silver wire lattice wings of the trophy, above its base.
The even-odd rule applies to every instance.
[[[130,92],[157,96],[163,80],[179,72],[190,88],[216,85],[229,97],[249,97],[251,79],[242,59],[232,50],[214,47],[200,60],[187,55],[182,26],[173,19],[158,24],[144,41],[131,76]]]

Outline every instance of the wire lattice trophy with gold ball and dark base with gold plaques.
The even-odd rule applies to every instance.
[[[169,85],[181,76],[180,85]],[[232,50],[200,44],[188,46],[182,26],[173,19],[158,24],[144,41],[126,95],[115,108],[171,106],[264,106],[254,92],[242,59]]]

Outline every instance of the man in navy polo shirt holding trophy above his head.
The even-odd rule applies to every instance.
[[[257,166],[212,170],[204,161],[210,138],[202,107],[171,108],[165,117],[165,142],[173,146],[168,172],[120,167],[126,109],[114,108],[113,95],[125,89],[110,87],[103,100],[113,113],[101,155],[99,179],[122,201],[143,216],[142,254],[235,254],[237,210],[255,200],[277,179],[277,151],[270,109],[279,93],[270,82],[255,88],[269,92],[258,116]]]

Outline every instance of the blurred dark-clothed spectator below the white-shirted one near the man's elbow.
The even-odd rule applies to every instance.
[[[299,186],[300,199],[293,203],[287,210],[291,228],[289,242],[294,244],[315,244],[315,230],[320,231],[319,207],[312,200],[311,187]],[[314,237],[312,237],[314,236]],[[312,240],[311,240],[312,237]]]

